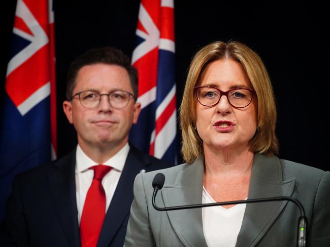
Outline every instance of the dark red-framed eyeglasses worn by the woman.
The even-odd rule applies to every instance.
[[[195,87],[194,90],[201,105],[215,106],[219,103],[221,97],[225,95],[229,104],[236,108],[247,107],[251,103],[255,92],[253,89],[246,88],[233,88],[223,92],[211,86]]]

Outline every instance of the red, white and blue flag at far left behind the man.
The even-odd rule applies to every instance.
[[[15,174],[56,156],[54,13],[17,0],[0,122],[0,220]]]

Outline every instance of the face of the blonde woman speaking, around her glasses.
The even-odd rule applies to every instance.
[[[237,87],[252,89],[243,66],[232,59],[210,63],[201,74],[199,86],[212,86],[223,92]],[[233,107],[226,96],[212,107],[203,106],[196,100],[196,128],[204,149],[249,148],[257,126],[256,102],[255,95],[245,108]]]

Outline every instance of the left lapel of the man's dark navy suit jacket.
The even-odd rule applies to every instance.
[[[76,152],[54,163],[48,170],[50,192],[54,199],[56,213],[69,246],[80,246],[78,210],[76,202],[75,166]]]

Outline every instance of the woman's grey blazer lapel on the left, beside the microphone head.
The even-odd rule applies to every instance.
[[[202,203],[203,158],[188,164],[173,185],[161,189],[166,207]],[[185,246],[207,246],[203,233],[202,209],[167,211],[170,222]]]

